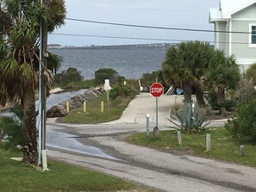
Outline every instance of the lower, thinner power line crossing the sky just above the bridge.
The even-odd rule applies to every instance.
[[[122,39],[122,40],[157,40],[157,41],[172,41],[172,42],[183,42],[183,41],[192,41],[192,40],[172,40],[172,39],[161,39],[161,38],[140,38],[140,37],[125,37],[125,36],[108,36],[108,35],[95,35],[95,34],[53,34],[53,35],[63,35],[63,36],[76,36],[76,37],[95,37],[95,38],[107,38],[107,39]],[[223,43],[226,44],[228,42],[224,41],[203,41],[201,42],[209,42],[209,43]],[[243,42],[231,42],[231,44],[238,45],[249,45],[249,43]]]

